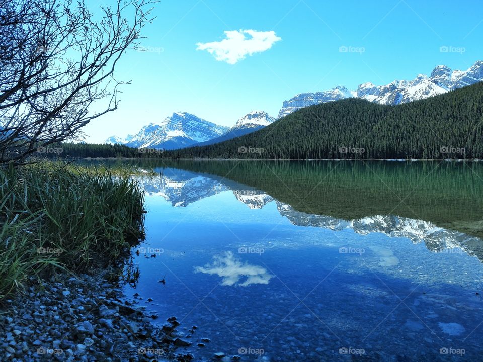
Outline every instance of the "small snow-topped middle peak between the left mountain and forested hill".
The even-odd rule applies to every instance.
[[[269,124],[275,121],[276,119],[269,116],[268,113],[265,111],[252,111],[236,121],[235,125],[231,127],[226,133],[222,134],[220,137],[203,142],[200,144],[200,146],[226,141],[235,137],[240,137],[247,133],[255,132],[259,129],[267,127]]]

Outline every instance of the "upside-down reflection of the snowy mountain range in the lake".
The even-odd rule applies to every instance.
[[[174,207],[185,207],[221,192],[231,191],[237,200],[251,209],[261,209],[274,201],[280,215],[286,217],[293,225],[321,227],[336,231],[352,229],[362,235],[377,232],[390,237],[406,237],[414,244],[425,243],[432,252],[456,252],[455,249],[460,248],[468,255],[483,261],[483,242],[479,237],[439,227],[431,221],[377,214],[346,220],[330,215],[305,213],[278,201],[262,190],[240,184],[228,177],[222,178],[217,175],[200,174],[176,168],[164,168],[160,171],[159,176],[143,177],[140,178],[140,182],[148,195],[161,196],[171,202]],[[354,208],[357,208],[357,202],[357,199],[353,200]],[[428,207],[434,208],[431,205]],[[227,279],[225,282],[229,280]],[[265,279],[262,280],[265,281]]]

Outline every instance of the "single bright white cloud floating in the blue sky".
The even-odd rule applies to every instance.
[[[196,50],[207,50],[213,54],[216,60],[235,64],[245,59],[247,55],[261,53],[268,50],[272,45],[282,40],[275,32],[256,30],[228,30],[225,31],[226,38],[219,42],[196,43]]]

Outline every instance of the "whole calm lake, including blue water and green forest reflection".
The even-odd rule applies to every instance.
[[[176,316],[196,360],[480,358],[480,163],[137,165],[157,175],[140,178],[147,237],[125,292]]]

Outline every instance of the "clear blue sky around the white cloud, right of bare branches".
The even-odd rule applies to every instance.
[[[87,3],[94,13],[100,4]],[[439,64],[466,70],[483,60],[477,1],[169,0],[154,4],[153,15],[141,40],[146,51],[126,53],[116,69],[132,84],[122,88],[118,110],[85,128],[88,141],[136,133],[176,111],[225,126],[252,110],[276,117],[298,93],[413,79]],[[197,50],[242,29],[280,40],[235,64]]]

